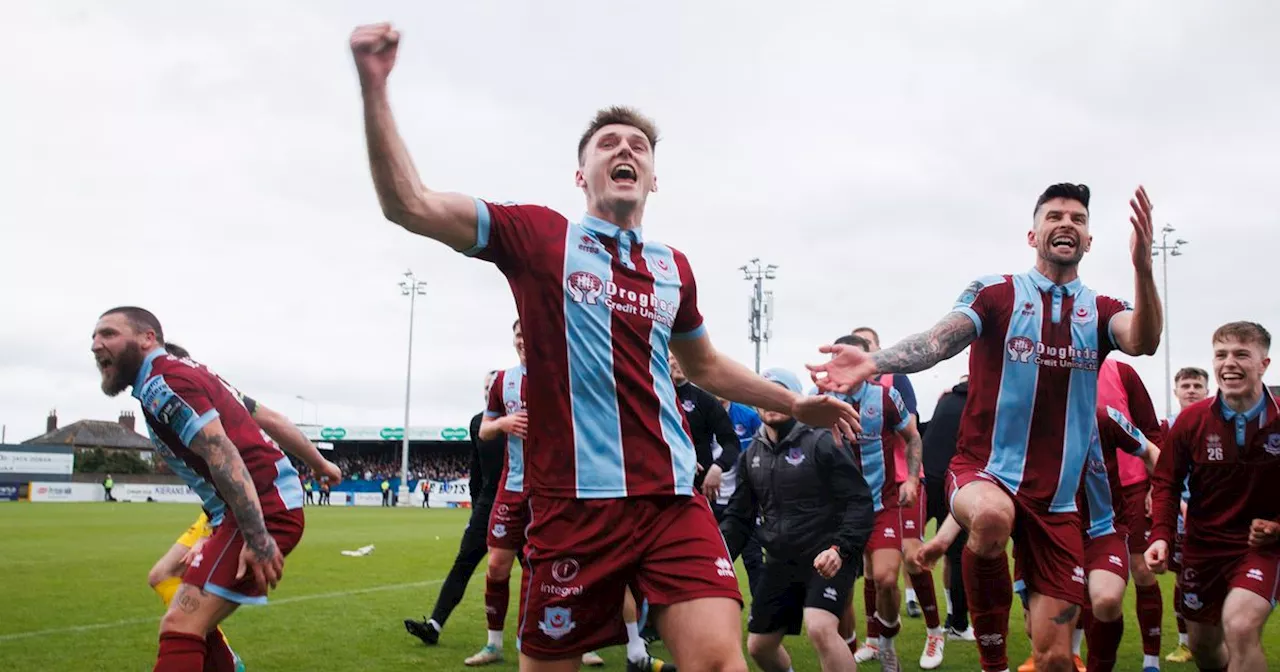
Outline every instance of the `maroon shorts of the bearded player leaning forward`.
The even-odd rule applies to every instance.
[[[284,556],[302,540],[305,520],[301,508],[273,513],[266,516],[265,522],[266,532],[275,539]],[[191,561],[182,582],[237,604],[266,604],[266,591],[253,582],[253,572],[246,571],[243,577],[236,579],[243,549],[244,535],[228,516]]]

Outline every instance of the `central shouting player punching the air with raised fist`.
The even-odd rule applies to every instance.
[[[718,353],[698,311],[685,255],[640,229],[657,189],[653,123],[626,108],[593,119],[575,183],[586,215],[497,205],[422,186],[387,96],[399,33],[351,37],[365,102],[370,168],[383,214],[404,229],[498,266],[529,340],[525,669],[576,669],[579,655],[622,644],[622,593],[634,584],[685,669],[746,668],[741,594],[680,416],[668,348],[695,384],[852,435],[856,415],[828,397],[768,383]],[[543,588],[548,590],[543,590]]]

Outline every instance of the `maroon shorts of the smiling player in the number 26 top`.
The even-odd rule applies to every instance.
[[[1221,623],[1222,603],[1231,590],[1248,590],[1275,607],[1280,599],[1280,553],[1251,548],[1212,554],[1183,553],[1183,618]]]

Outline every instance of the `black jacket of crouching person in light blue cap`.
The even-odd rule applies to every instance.
[[[872,493],[847,448],[831,431],[796,422],[777,444],[751,440],[737,462],[737,489],[721,532],[731,557],[756,529],[769,558],[813,562],[835,545],[845,564],[861,566],[876,518]]]

